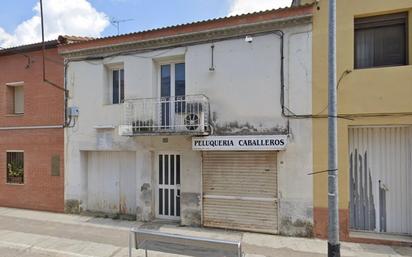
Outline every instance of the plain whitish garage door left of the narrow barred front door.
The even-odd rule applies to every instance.
[[[89,152],[87,209],[110,214],[136,214],[134,152]]]

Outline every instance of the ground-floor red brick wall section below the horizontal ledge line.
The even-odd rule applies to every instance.
[[[0,131],[0,206],[63,212],[64,135],[62,129]],[[24,184],[6,183],[6,151],[24,151]],[[51,159],[60,156],[60,176]]]

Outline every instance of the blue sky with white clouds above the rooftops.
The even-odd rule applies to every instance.
[[[46,40],[102,37],[287,7],[291,0],[43,0]],[[0,47],[41,41],[39,0],[2,0]]]

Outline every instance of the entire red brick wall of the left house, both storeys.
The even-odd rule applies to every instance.
[[[0,128],[62,125],[64,93],[43,82],[41,51],[0,55]],[[47,50],[47,79],[63,86],[63,59]],[[24,81],[24,114],[9,115],[7,83]],[[7,150],[24,151],[24,184],[6,183]],[[52,156],[60,157],[60,175],[52,176]],[[0,130],[0,206],[64,211],[64,130]]]

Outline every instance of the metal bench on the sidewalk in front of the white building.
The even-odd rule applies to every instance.
[[[239,241],[183,236],[148,229],[133,228],[129,235],[129,257],[132,249],[159,251],[195,257],[242,257]]]

